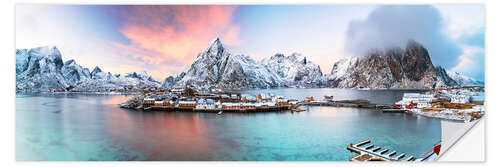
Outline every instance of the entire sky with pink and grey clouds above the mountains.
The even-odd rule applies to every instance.
[[[484,81],[483,5],[16,5],[16,49],[155,79],[185,71],[216,37],[259,61],[294,52],[329,73],[344,58],[414,39],[434,65]]]

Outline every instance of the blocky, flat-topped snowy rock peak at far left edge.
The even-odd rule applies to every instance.
[[[63,90],[69,86],[61,74],[61,53],[56,47],[16,50],[16,89]]]

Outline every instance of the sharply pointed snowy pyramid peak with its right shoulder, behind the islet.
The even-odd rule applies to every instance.
[[[171,79],[170,79],[171,80]],[[281,80],[262,64],[248,56],[232,55],[216,38],[191,64],[186,75],[175,86],[197,88],[270,88]]]

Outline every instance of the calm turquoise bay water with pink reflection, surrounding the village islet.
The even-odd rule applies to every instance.
[[[313,90],[313,91],[311,91]],[[335,89],[261,90],[390,102],[402,92]],[[355,96],[353,96],[353,94]],[[380,97],[377,97],[380,94]],[[16,95],[17,160],[346,161],[349,143],[419,156],[441,139],[438,119],[372,109],[310,107],[300,113],[138,112],[123,95]],[[346,96],[348,97],[348,96]],[[384,100],[385,99],[385,100]]]

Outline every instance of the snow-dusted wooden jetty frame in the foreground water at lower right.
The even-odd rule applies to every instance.
[[[347,150],[358,153],[358,155],[349,159],[349,161],[415,161],[414,156],[406,153],[398,154],[396,151],[389,152],[388,149],[382,149],[370,144],[367,139],[356,144],[349,144]]]

